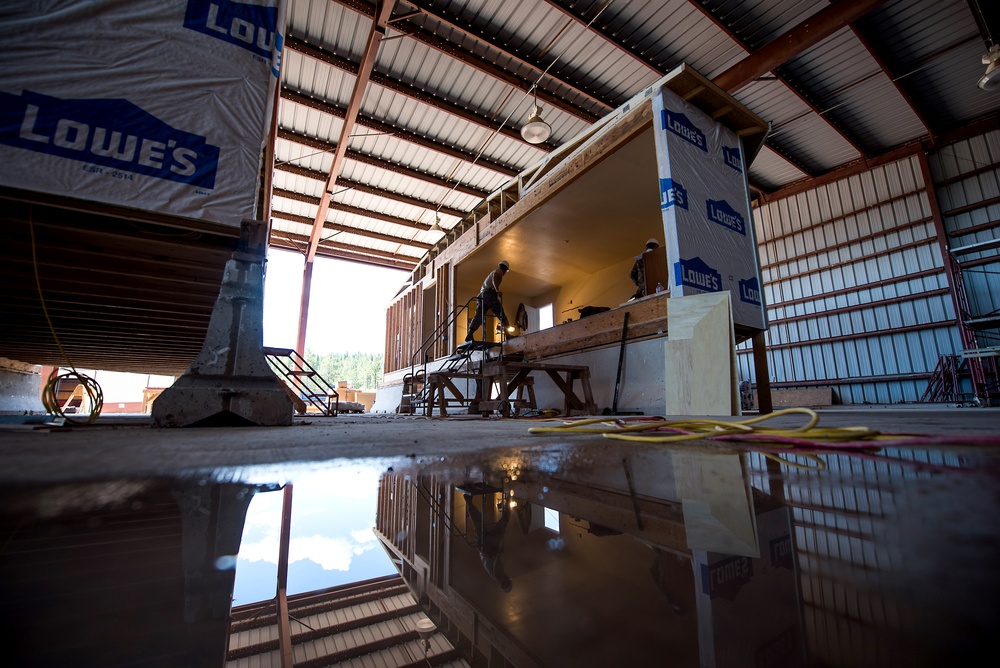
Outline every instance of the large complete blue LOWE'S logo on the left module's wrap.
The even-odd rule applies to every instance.
[[[211,190],[219,149],[128,100],[0,92],[0,143]]]

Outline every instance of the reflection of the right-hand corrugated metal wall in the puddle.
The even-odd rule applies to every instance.
[[[939,475],[912,463],[960,468],[963,460],[933,451],[883,454],[878,462],[824,456],[822,471],[782,465],[778,490],[764,456],[748,456],[754,486],[780,494],[791,509],[809,654],[828,665],[868,665],[876,656],[879,665],[926,665],[925,648],[912,641],[920,616],[900,597],[874,592],[913,562],[904,541],[914,540],[914,527],[901,528],[900,520],[915,504],[940,504],[926,487],[910,491],[914,481]],[[810,480],[817,476],[823,484]]]

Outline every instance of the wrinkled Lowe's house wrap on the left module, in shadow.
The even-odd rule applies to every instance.
[[[284,0],[5,0],[0,185],[255,216]]]

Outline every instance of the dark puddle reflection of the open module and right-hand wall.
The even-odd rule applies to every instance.
[[[382,477],[456,646],[513,665],[947,665],[994,652],[992,454],[612,450]]]

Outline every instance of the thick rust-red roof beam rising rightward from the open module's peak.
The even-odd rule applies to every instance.
[[[715,77],[714,82],[723,90],[736,92],[885,2],[886,0],[841,0],[829,5]]]

